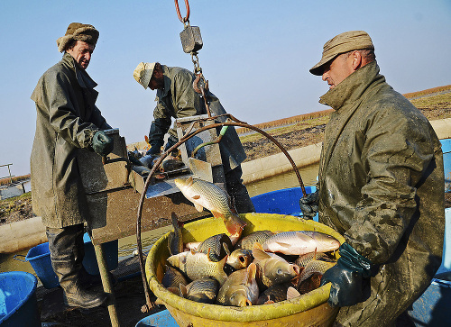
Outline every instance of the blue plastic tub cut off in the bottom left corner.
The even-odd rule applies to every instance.
[[[0,325],[41,326],[36,286],[38,280],[23,271],[0,273]]]

